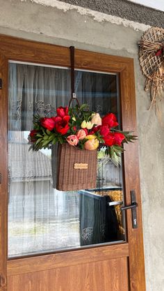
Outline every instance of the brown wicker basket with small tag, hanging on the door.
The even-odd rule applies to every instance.
[[[72,191],[96,187],[97,150],[87,151],[69,144],[58,145],[56,189]]]

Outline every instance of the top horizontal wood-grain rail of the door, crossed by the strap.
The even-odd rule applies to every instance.
[[[33,42],[6,35],[0,35],[0,44],[1,52],[5,54],[8,60],[70,67],[70,52],[67,47]],[[122,72],[129,63],[131,63],[131,58],[75,50],[75,67],[79,69],[117,73]]]

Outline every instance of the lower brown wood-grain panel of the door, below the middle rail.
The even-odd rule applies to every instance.
[[[128,263],[126,258],[117,258],[10,276],[8,290],[129,291]]]

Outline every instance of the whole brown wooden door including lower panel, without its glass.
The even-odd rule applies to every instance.
[[[136,191],[138,228],[126,211],[126,240],[83,249],[8,258],[8,62],[70,67],[69,48],[0,36],[0,290],[8,291],[144,291],[142,215],[138,144],[124,151],[124,203]],[[76,69],[110,72],[119,76],[121,119],[124,131],[136,133],[133,59],[76,50]]]

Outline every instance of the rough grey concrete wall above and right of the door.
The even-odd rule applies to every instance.
[[[134,59],[147,291],[162,291],[164,120],[147,110],[149,93],[138,64],[138,41],[149,26],[56,0],[32,2],[0,0],[0,33]],[[160,107],[163,115],[163,101]]]

